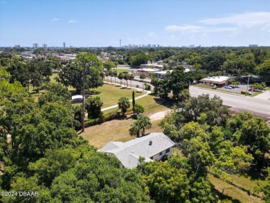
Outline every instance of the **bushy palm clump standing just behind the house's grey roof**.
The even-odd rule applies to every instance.
[[[152,127],[152,123],[150,118],[147,116],[140,116],[138,120],[132,123],[129,129],[130,135],[136,135],[137,137],[140,136],[140,133],[143,135],[145,134],[145,130]]]

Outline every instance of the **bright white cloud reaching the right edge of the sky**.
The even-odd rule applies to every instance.
[[[246,12],[244,14],[232,14],[226,17],[202,19],[201,24],[218,25],[231,24],[237,26],[255,26],[260,24],[269,24],[270,12]]]

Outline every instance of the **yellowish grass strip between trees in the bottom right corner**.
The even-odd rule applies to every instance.
[[[221,179],[214,177],[213,175],[208,175],[208,179],[219,193],[219,202],[230,200],[231,202],[242,203],[262,202],[260,198],[249,195],[245,191],[240,190],[240,188],[228,184]]]

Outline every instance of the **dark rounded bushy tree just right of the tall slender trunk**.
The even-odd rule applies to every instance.
[[[85,109],[87,109],[88,118],[100,118],[102,115],[102,105],[103,102],[99,96],[87,98],[87,100],[85,100]]]

